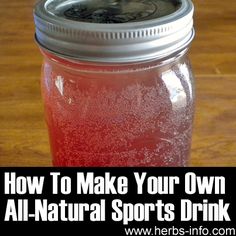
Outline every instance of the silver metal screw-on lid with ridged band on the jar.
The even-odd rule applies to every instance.
[[[43,48],[84,61],[162,58],[194,37],[190,0],[42,0],[34,19]]]

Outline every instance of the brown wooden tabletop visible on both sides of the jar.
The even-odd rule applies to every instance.
[[[1,0],[0,166],[50,166],[33,0]],[[236,1],[194,1],[192,166],[236,166]]]

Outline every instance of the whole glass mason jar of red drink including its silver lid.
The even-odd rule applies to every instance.
[[[34,10],[54,166],[186,166],[190,0],[43,0]]]

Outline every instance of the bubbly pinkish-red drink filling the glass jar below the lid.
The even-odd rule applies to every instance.
[[[46,60],[42,91],[54,165],[185,166],[193,95],[182,67],[88,73]]]

